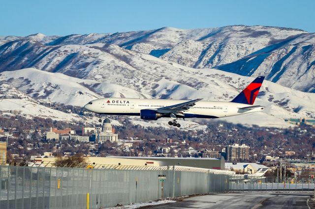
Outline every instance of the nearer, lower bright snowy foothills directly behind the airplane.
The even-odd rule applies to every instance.
[[[151,58],[153,60],[158,59],[153,56]],[[176,78],[180,75],[182,77],[174,80],[163,78],[163,72],[160,72],[162,78],[152,84],[137,80],[130,81],[135,86],[140,85],[138,88],[142,90],[141,93],[123,87],[122,83],[117,85],[97,82],[29,68],[2,72],[0,74],[0,94],[8,95],[9,92],[9,96],[25,97],[31,101],[57,102],[77,106],[83,106],[93,99],[104,96],[152,98],[150,95],[153,94],[156,98],[204,98],[204,100],[230,101],[253,79],[215,69],[211,71],[199,69],[199,74],[195,74],[195,69],[189,67],[175,63],[165,63],[165,65],[173,67],[168,73],[175,75]],[[144,75],[149,74],[149,71]],[[191,78],[192,76],[194,78]],[[270,81],[264,81],[258,98],[255,104],[266,106],[264,112],[242,116],[242,121],[239,121],[239,117],[229,117],[223,120],[250,125],[283,127],[288,126],[284,122],[284,118],[287,117],[315,117],[313,105],[315,94],[313,93],[300,92]],[[18,106],[12,106],[10,103],[0,104],[1,109],[19,109]],[[21,104],[21,106],[25,107],[25,104]],[[30,112],[24,111],[24,113],[29,114]],[[167,124],[167,119],[142,122],[139,117],[134,117],[133,120],[136,124],[147,126],[165,126]],[[187,122],[186,128],[191,127],[198,128],[197,124]]]

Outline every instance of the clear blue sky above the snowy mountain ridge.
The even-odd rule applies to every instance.
[[[315,32],[315,0],[3,0],[0,35],[114,33],[164,26],[283,26]]]

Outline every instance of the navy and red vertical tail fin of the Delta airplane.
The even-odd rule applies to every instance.
[[[264,76],[258,76],[250,85],[248,85],[239,95],[237,95],[231,102],[242,104],[254,104],[260,86],[264,81]]]

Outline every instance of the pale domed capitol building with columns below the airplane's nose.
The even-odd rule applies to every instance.
[[[92,135],[91,141],[98,143],[103,143],[109,140],[110,142],[118,140],[118,134],[112,128],[112,124],[109,118],[106,118],[103,122],[102,131],[100,133],[95,133]]]

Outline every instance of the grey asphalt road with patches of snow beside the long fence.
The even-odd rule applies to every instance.
[[[227,193],[195,196],[152,209],[309,209],[312,193]]]

